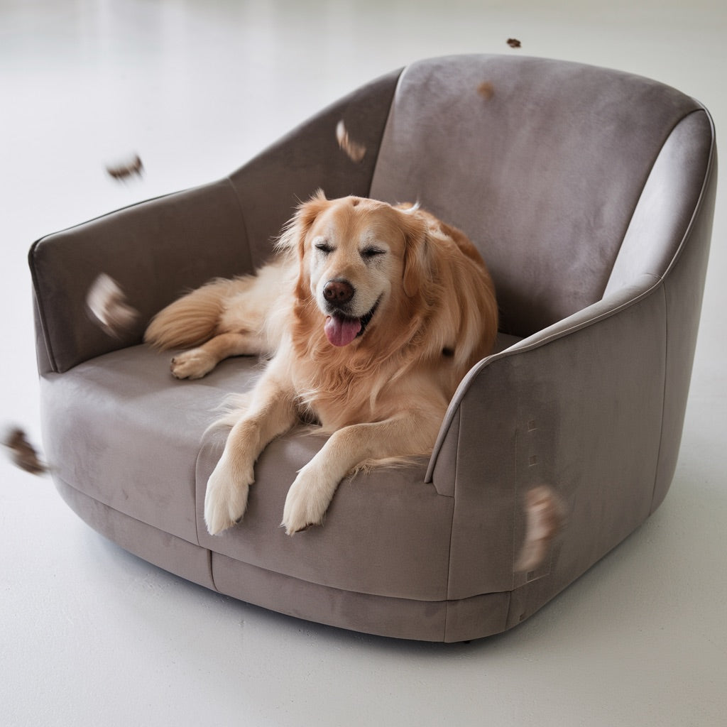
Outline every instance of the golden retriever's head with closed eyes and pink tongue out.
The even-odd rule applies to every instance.
[[[413,207],[318,192],[299,207],[281,246],[297,251],[297,296],[315,302],[338,347],[400,320],[427,278],[427,223]]]

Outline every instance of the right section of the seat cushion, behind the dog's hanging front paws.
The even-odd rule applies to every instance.
[[[426,461],[346,478],[322,527],[285,534],[280,523],[289,486],[324,441],[298,430],[270,443],[257,461],[244,520],[212,536],[202,521],[204,491],[224,433],[207,435],[197,470],[200,544],[235,561],[339,590],[445,601],[454,498],[425,483]]]

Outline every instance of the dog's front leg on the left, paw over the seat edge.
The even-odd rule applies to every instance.
[[[222,457],[207,481],[204,521],[212,535],[241,521],[257,457],[295,421],[289,387],[266,372],[254,390],[249,409],[230,430]]]

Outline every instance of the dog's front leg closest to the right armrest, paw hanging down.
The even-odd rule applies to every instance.
[[[286,533],[320,525],[340,481],[357,465],[369,459],[430,453],[440,425],[436,417],[408,413],[334,432],[288,491],[281,523]]]

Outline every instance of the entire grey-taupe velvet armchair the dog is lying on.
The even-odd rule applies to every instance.
[[[478,87],[491,84],[493,93]],[[344,119],[366,145],[355,164]],[[58,490],[95,529],[206,587],[286,614],[457,641],[537,611],[662,502],[675,470],[716,185],[695,100],[616,71],[526,57],[414,63],[358,89],[228,179],[38,241],[44,444]],[[177,381],[140,345],[153,313],[252,270],[321,187],[419,199],[465,230],[498,290],[498,350],[460,385],[430,460],[342,483],[321,528],[279,527],[318,451],[297,430],[257,464],[241,525],[210,536],[206,479],[225,393],[257,361]],[[85,311],[100,272],[140,311],[119,338]],[[542,566],[515,571],[523,494],[546,483],[567,521]]]

